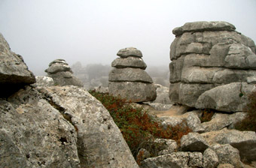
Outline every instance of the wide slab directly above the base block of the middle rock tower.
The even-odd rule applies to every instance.
[[[148,73],[139,68],[114,68],[109,73],[108,81],[153,83]]]

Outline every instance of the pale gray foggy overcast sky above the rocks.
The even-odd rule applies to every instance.
[[[130,46],[168,67],[173,28],[221,20],[256,41],[256,0],[0,0],[0,32],[35,74],[56,58],[111,65]]]

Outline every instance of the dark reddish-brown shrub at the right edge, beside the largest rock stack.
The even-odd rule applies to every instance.
[[[249,103],[245,106],[244,111],[247,113],[245,118],[235,124],[237,130],[252,130],[256,132],[256,92],[248,96]]]

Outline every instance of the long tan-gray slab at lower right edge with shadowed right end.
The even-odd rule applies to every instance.
[[[239,150],[242,160],[256,160],[256,134],[253,131],[223,130],[201,134],[209,144],[230,144]]]

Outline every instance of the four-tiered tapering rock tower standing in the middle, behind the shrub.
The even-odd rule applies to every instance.
[[[142,60],[142,52],[130,47],[120,49],[111,66],[108,77],[109,93],[131,102],[154,101],[157,92],[153,80],[144,70],[147,65]]]

